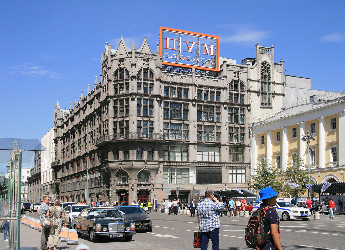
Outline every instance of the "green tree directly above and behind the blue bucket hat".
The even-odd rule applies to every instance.
[[[256,165],[256,174],[250,175],[252,183],[249,187],[253,188],[255,192],[259,192],[264,187],[272,187],[274,191],[281,191],[284,184],[281,176],[279,169],[273,167],[272,163],[260,159],[260,164]]]

